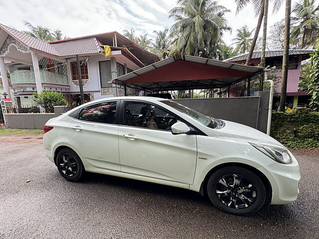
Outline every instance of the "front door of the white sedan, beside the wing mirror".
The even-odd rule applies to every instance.
[[[143,101],[123,101],[119,126],[121,171],[192,184],[197,145],[194,134],[172,134],[179,121],[167,110]]]

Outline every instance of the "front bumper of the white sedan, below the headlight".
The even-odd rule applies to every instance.
[[[270,181],[272,187],[270,204],[289,204],[297,200],[300,169],[295,158],[292,164],[274,162],[258,169]]]

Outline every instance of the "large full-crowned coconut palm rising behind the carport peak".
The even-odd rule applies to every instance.
[[[170,29],[175,36],[170,54],[198,56],[207,43],[218,43],[225,25],[221,13],[229,12],[228,9],[216,0],[177,0],[177,4],[169,11],[169,18],[175,20]]]

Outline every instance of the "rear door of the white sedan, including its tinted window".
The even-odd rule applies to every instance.
[[[93,104],[80,110],[67,129],[87,170],[121,170],[116,119],[118,101]]]

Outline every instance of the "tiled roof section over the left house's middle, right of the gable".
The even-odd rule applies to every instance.
[[[59,56],[73,56],[76,54],[91,54],[101,52],[95,37],[81,38],[70,41],[53,42],[50,45]]]

